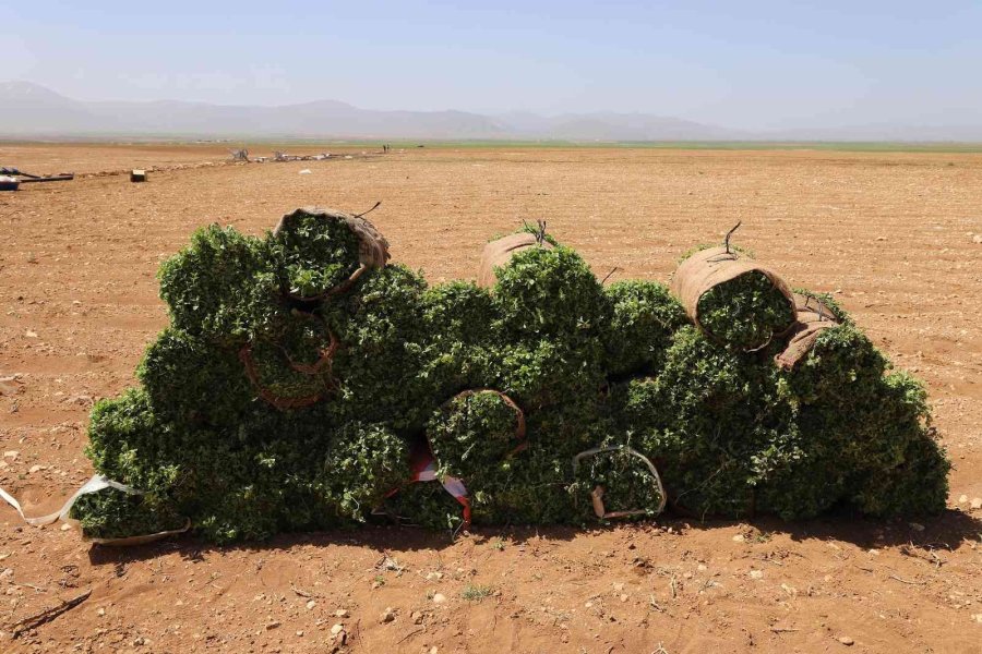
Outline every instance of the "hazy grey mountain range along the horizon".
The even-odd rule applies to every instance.
[[[73,100],[29,82],[0,83],[4,137],[262,137],[361,140],[956,141],[982,142],[979,126],[865,125],[749,132],[647,113],[376,111],[335,100],[280,107]]]

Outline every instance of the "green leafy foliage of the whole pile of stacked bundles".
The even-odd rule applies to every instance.
[[[654,512],[661,498],[636,457],[574,470],[577,453],[618,445],[698,517],[944,508],[949,463],[923,386],[891,373],[829,298],[842,324],[783,371],[771,335],[787,301],[763,276],[704,295],[710,338],[661,284],[603,289],[554,240],[516,254],[490,290],[428,287],[398,265],[338,289],[358,266],[352,239],[343,220],[309,215],[264,239],[211,226],[161,266],[171,325],[141,386],[96,404],[86,449],[142,494],[82,498],[72,517],[86,534],[190,519],[230,543],[357,525],[380,507],[453,532],[460,504],[438,482],[409,483],[408,444],[424,440],[441,479],[467,486],[477,524],[592,523],[598,485],[608,511]],[[524,414],[522,440],[500,392]]]

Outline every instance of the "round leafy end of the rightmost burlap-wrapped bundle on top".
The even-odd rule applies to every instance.
[[[794,307],[763,272],[751,270],[719,283],[699,298],[699,324],[718,341],[756,350],[794,322]]]

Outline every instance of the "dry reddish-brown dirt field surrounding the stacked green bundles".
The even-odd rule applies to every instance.
[[[0,144],[0,164],[37,172],[165,168],[145,184],[106,174],[0,194],[0,486],[29,513],[89,476],[89,404],[133,383],[167,320],[155,271],[191,230],[260,233],[297,206],[379,199],[394,258],[431,281],[472,278],[489,237],[535,218],[599,276],[666,280],[680,253],[742,219],[738,242],[835,292],[927,382],[956,467],[949,510],[920,524],[666,519],[455,543],[373,528],[112,549],[4,505],[0,651],[982,651],[982,155],[412,148],[196,167],[226,156]]]

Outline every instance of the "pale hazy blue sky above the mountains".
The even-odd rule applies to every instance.
[[[982,122],[982,0],[0,0],[0,80],[79,99]]]

